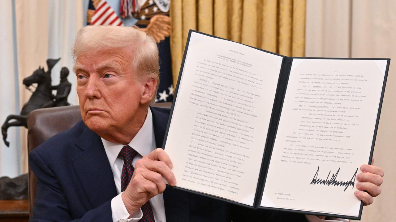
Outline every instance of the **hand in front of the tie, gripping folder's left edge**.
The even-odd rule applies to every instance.
[[[150,198],[164,192],[166,184],[162,177],[169,185],[176,185],[172,167],[168,154],[161,148],[157,148],[136,162],[132,179],[121,196],[130,216]]]

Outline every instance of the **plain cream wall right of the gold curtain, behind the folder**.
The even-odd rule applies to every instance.
[[[306,56],[391,58],[375,142],[385,171],[382,194],[364,207],[363,222],[396,221],[396,1],[307,0]]]

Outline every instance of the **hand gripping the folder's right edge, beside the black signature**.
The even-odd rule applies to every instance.
[[[374,159],[371,161],[374,164]],[[373,203],[373,197],[381,194],[381,186],[384,176],[384,171],[376,166],[363,164],[360,167],[362,173],[356,175],[359,182],[356,183],[355,196],[363,201],[364,206]],[[364,192],[367,191],[367,192]]]

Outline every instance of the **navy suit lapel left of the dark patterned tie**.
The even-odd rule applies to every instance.
[[[73,160],[74,168],[93,208],[117,195],[109,159],[99,135],[87,127],[76,145],[83,150]]]

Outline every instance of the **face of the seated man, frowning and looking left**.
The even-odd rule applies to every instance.
[[[82,119],[98,134],[122,132],[136,121],[145,83],[126,49],[78,55],[75,72]]]

